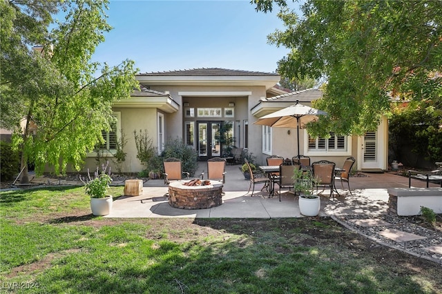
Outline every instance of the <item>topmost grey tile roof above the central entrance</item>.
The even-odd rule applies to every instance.
[[[141,76],[278,76],[276,72],[254,72],[249,70],[229,70],[227,68],[192,68],[167,72],[144,72]]]

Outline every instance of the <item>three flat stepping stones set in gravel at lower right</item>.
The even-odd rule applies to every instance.
[[[361,226],[361,227],[394,226],[389,222],[385,222],[383,219],[348,219],[348,221],[352,222],[356,226]],[[405,242],[411,242],[427,238],[420,235],[399,231],[394,228],[387,228],[384,231],[379,232],[378,234],[388,239],[392,239],[396,243],[403,243],[404,246],[406,244]],[[442,255],[442,244],[426,247],[423,249],[426,251],[430,251],[432,253]]]

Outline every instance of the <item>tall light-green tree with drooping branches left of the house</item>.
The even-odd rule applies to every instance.
[[[113,101],[130,97],[137,87],[133,61],[118,66],[90,61],[104,41],[106,0],[1,1],[1,119],[14,128],[13,141],[26,165],[37,173],[46,164],[55,173],[68,164],[79,170],[86,153],[102,144],[102,130],[114,121]],[[64,22],[49,30],[51,14],[63,10]],[[41,50],[32,46],[41,45]],[[101,75],[95,73],[100,70]],[[19,122],[25,119],[23,130]],[[34,135],[30,126],[37,128]],[[23,135],[22,135],[23,134]]]

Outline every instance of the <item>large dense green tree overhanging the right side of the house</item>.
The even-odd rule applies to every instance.
[[[314,105],[329,113],[309,128],[311,135],[363,135],[390,114],[390,99],[422,102],[441,121],[441,1],[252,0],[257,10],[281,8],[285,30],[270,43],[291,51],[278,62],[288,79],[325,78],[324,98]],[[427,103],[427,101],[432,101]],[[442,135],[442,128],[435,130]]]

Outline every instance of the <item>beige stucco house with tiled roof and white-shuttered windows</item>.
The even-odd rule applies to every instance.
[[[322,97],[320,90],[294,93],[278,87],[276,73],[197,68],[168,72],[146,72],[137,75],[140,90],[130,99],[113,105],[117,125],[115,132],[104,134],[106,145],[102,156],[111,158],[115,141],[121,135],[127,139],[127,153],[122,171],[137,173],[143,166],[137,159],[134,130],[146,130],[159,153],[164,143],[180,138],[193,148],[200,160],[223,155],[223,146],[215,139],[215,130],[229,121],[234,145],[249,150],[260,164],[268,155],[291,158],[296,154],[296,130],[269,128],[253,124],[259,117],[279,110],[299,100],[302,104]],[[300,130],[300,153],[311,160],[329,159],[337,166],[354,156],[358,169],[387,168],[387,123],[365,137],[333,137],[309,139]],[[95,168],[96,154],[90,153],[85,168]]]

